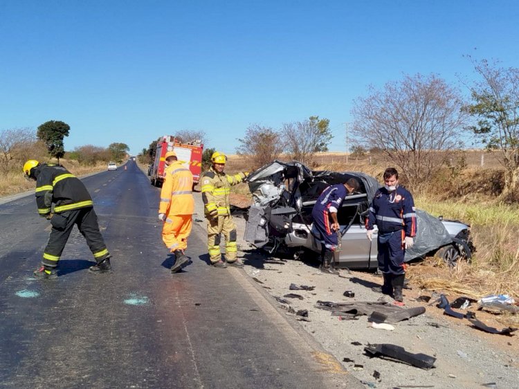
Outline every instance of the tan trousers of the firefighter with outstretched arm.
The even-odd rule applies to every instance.
[[[226,239],[226,260],[235,262],[237,259],[236,224],[230,215],[218,216],[214,219],[207,217],[208,251],[211,263],[221,260],[220,236]],[[221,235],[220,235],[221,234]]]

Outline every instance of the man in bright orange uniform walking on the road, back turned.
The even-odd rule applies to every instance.
[[[164,222],[162,239],[176,258],[171,267],[172,273],[176,273],[190,262],[185,249],[188,248],[194,212],[193,175],[176,159],[175,152],[167,152],[165,161],[168,166],[164,171],[158,219]]]

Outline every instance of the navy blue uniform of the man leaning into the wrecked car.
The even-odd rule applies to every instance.
[[[330,213],[339,210],[347,194],[342,183],[329,186],[322,191],[312,209],[313,233],[330,251],[334,251],[338,245],[338,232],[331,229],[334,221]]]

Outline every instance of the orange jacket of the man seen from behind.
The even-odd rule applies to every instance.
[[[192,189],[193,174],[182,161],[174,161],[164,172],[158,213],[168,216],[192,215],[194,212]]]

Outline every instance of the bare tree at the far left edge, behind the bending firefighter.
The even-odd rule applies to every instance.
[[[0,131],[0,168],[10,170],[13,163],[28,159],[26,151],[36,143],[36,132],[30,128],[12,128]],[[35,158],[35,157],[33,157]]]

